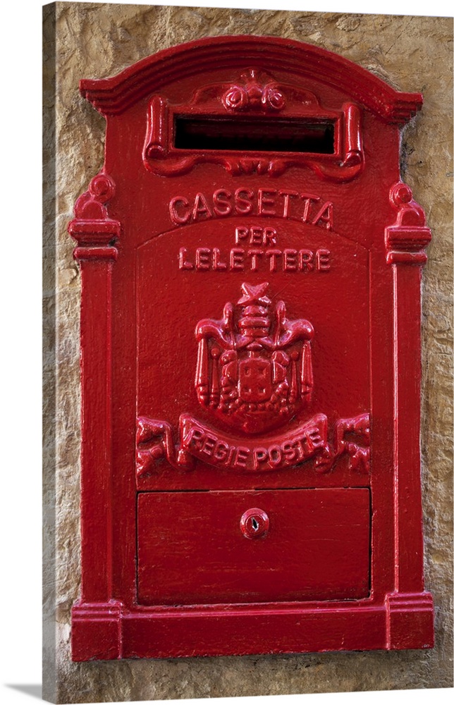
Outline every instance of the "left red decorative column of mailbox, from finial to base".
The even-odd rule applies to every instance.
[[[121,603],[112,599],[111,275],[120,223],[108,216],[114,183],[95,176],[75,203],[68,231],[80,264],[81,595],[73,606],[73,659],[119,658]],[[78,658],[79,655],[79,658]]]

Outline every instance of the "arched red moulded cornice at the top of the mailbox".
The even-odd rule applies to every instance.
[[[80,92],[104,115],[120,114],[146,95],[178,78],[216,68],[278,66],[344,90],[388,123],[405,123],[422,106],[420,93],[394,90],[374,74],[338,54],[278,37],[224,36],[197,39],[164,49],[111,78],[80,81]]]

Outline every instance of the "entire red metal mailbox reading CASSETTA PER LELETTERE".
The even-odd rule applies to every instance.
[[[420,649],[416,93],[216,37],[82,80],[73,659]]]

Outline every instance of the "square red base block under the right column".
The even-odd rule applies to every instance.
[[[431,649],[434,646],[434,600],[429,592],[386,595],[387,649]]]

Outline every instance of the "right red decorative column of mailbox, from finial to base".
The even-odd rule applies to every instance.
[[[388,649],[429,648],[434,606],[424,592],[421,459],[421,275],[431,240],[423,209],[404,183],[391,188],[397,210],[385,228],[386,261],[393,268],[394,320],[394,591],[386,596]]]

